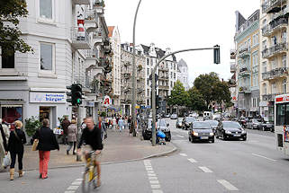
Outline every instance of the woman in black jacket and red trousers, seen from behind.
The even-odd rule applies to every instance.
[[[42,121],[42,127],[36,131],[34,136],[32,136],[33,140],[38,139],[39,143],[37,146],[37,150],[39,150],[39,171],[40,178],[47,179],[48,173],[48,165],[50,162],[50,151],[51,150],[59,150],[59,143],[56,140],[53,131],[50,129],[50,120],[48,118],[44,118]]]

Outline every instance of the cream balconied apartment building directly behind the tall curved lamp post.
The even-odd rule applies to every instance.
[[[131,101],[132,101],[132,46],[129,43],[122,44],[122,87],[121,87],[121,106],[122,115],[131,115]],[[136,63],[136,109],[145,107],[145,57],[139,49],[135,53]]]

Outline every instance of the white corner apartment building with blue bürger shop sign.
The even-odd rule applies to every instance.
[[[29,16],[21,18],[22,38],[34,53],[15,52],[0,59],[0,116],[7,122],[32,116],[59,125],[63,115],[77,116],[66,86],[81,83],[81,115],[97,117],[111,92],[111,48],[99,0],[26,0]],[[5,48],[2,48],[5,49]]]

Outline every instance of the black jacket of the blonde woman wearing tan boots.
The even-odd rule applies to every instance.
[[[19,139],[14,134],[17,134]],[[13,153],[23,153],[24,152],[24,144],[26,144],[26,136],[20,128],[15,128],[14,131],[11,131],[9,140],[8,140],[8,151]]]

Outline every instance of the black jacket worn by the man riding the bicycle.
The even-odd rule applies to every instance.
[[[80,148],[84,142],[86,142],[86,145],[90,145],[93,150],[102,150],[104,148],[101,130],[96,127],[92,131],[87,127],[83,130],[77,148]]]

